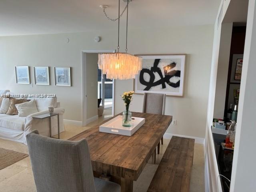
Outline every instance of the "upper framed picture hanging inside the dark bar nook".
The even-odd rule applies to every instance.
[[[230,83],[240,83],[241,82],[243,57],[244,57],[243,54],[233,54],[232,55]]]

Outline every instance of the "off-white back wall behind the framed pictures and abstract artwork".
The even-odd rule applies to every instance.
[[[121,48],[125,46],[121,30]],[[94,42],[95,36],[102,41]],[[166,114],[173,115],[176,126],[168,133],[204,138],[212,57],[213,26],[131,29],[128,52],[132,54],[187,54],[184,97],[166,98]],[[66,43],[66,38],[70,39]],[[109,50],[116,47],[116,30],[83,33],[0,37],[0,89],[12,92],[56,93],[66,109],[64,118],[81,121],[81,50]],[[15,65],[51,66],[50,86],[18,85]],[[72,87],[54,86],[54,66],[72,67]],[[32,70],[30,71],[32,74]],[[32,82],[34,84],[34,78]],[[124,110],[120,95],[132,90],[132,80],[115,83],[115,113]],[[141,96],[134,96],[132,110],[140,111]]]

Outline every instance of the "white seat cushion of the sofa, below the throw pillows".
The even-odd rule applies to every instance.
[[[8,115],[0,118],[0,126],[13,129],[24,131],[24,124],[25,124],[26,117],[19,117],[18,115]]]

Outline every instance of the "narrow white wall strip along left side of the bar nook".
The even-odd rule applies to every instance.
[[[221,28],[222,20],[228,9],[230,0],[226,0],[220,3],[220,8],[218,15],[221,12],[222,16],[220,19],[220,25],[218,26],[218,16],[216,18],[214,26],[214,40],[213,40],[213,50],[212,50],[212,65],[211,65],[211,75],[210,75],[210,90],[209,90],[209,100],[207,109],[207,123],[206,123],[206,136],[205,136],[205,191],[216,192],[222,191],[220,185],[220,178],[218,178],[218,164],[215,155],[214,142],[212,138],[212,119],[214,116],[214,101],[216,93],[216,82],[217,82],[217,71],[218,71],[218,60],[220,52],[220,38],[221,38]]]

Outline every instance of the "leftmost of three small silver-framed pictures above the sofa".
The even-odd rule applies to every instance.
[[[30,84],[29,66],[16,66],[16,83],[18,84]]]

